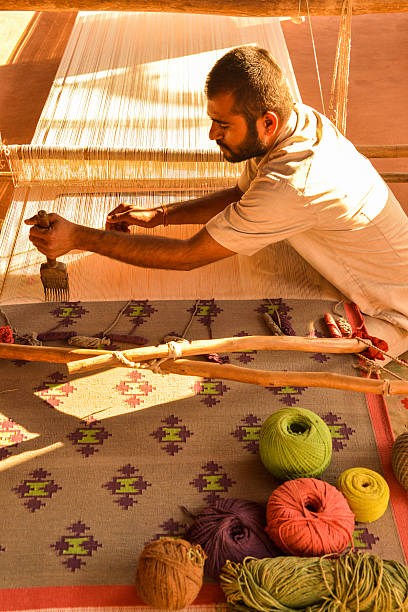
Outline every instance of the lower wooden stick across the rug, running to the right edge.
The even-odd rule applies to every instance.
[[[237,382],[260,385],[262,387],[324,387],[343,391],[359,391],[377,395],[396,395],[408,393],[408,381],[373,380],[357,376],[345,376],[330,372],[267,372],[243,368],[230,364],[204,363],[191,359],[169,359],[160,366],[164,372],[200,376],[202,378],[221,378]]]

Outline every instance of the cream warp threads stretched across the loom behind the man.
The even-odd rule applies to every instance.
[[[1,303],[42,300],[43,257],[22,224],[39,209],[101,228],[120,202],[153,207],[235,183],[240,165],[219,162],[208,139],[203,86],[216,59],[239,44],[269,48],[299,100],[278,20],[79,14],[32,144],[11,147],[20,186],[0,237]],[[165,231],[187,238],[197,229]],[[163,228],[138,231],[161,235]],[[286,244],[189,273],[130,268],[87,253],[62,260],[73,300],[251,299],[275,295],[276,286],[287,296],[339,297]]]

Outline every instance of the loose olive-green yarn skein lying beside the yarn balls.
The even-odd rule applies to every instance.
[[[270,612],[406,610],[408,568],[375,555],[227,561],[221,587],[232,608]]]

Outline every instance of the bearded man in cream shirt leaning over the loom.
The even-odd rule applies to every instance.
[[[50,230],[31,229],[33,244],[53,258],[82,249],[136,266],[190,270],[287,239],[362,312],[387,322],[399,352],[408,348],[408,218],[370,162],[328,119],[293,103],[264,49],[224,55],[206,94],[210,139],[226,160],[248,160],[237,186],[149,210],[121,205],[106,221],[108,230],[205,224],[201,231],[175,240],[51,215]]]

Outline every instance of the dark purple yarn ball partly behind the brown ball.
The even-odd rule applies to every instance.
[[[265,533],[265,508],[245,499],[220,499],[204,508],[186,533],[207,555],[204,571],[218,580],[229,559],[274,557],[282,554]]]

